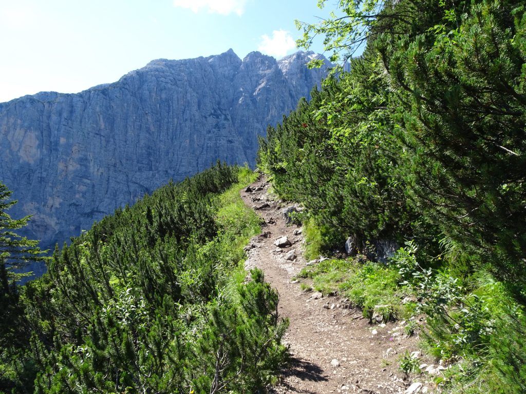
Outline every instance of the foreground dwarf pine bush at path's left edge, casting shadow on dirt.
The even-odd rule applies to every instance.
[[[237,287],[238,300],[218,297],[197,346],[208,373],[193,379],[195,392],[265,392],[286,354],[280,345],[288,322],[279,320],[278,294],[261,271]],[[261,338],[268,338],[262,342]]]

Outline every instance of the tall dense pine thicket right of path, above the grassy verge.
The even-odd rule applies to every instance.
[[[336,57],[367,41],[365,53],[269,129],[261,160],[277,188],[337,231],[416,239],[434,255],[442,239],[523,282],[523,4],[338,8],[302,25],[300,45],[321,35]]]

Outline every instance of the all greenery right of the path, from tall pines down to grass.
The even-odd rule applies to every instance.
[[[426,346],[451,365],[444,389],[525,392],[524,4],[338,5],[299,24],[300,44],[322,35],[350,72],[260,140],[275,190],[306,208],[308,248],[348,240],[358,254],[300,276],[370,318],[375,305],[389,306],[387,319],[426,314]],[[396,244],[387,265],[374,263]],[[405,297],[415,300],[407,308]]]

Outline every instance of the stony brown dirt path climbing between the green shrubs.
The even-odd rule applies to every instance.
[[[370,325],[361,313],[348,309],[338,297],[302,292],[292,283],[305,266],[301,227],[287,226],[285,206],[269,198],[264,177],[241,191],[245,203],[265,219],[263,234],[247,246],[247,269],[258,267],[280,295],[281,316],[290,319],[285,341],[292,361],[274,393],[403,393],[411,381],[403,380],[396,360],[416,348],[416,338],[406,338],[400,324]],[[262,207],[262,208],[261,208]],[[286,235],[291,246],[274,245]],[[285,255],[295,250],[296,260]]]

